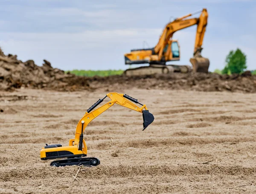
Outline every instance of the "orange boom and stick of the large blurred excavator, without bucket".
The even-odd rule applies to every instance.
[[[198,12],[196,12],[196,13],[198,13]],[[173,34],[176,31],[182,30],[184,28],[188,28],[192,25],[198,25],[196,39],[195,39],[194,55],[195,55],[196,51],[201,49],[201,45],[203,43],[204,33],[206,30],[206,25],[207,25],[208,13],[207,13],[207,10],[204,8],[201,11],[201,15],[199,18],[191,18],[191,19],[183,20],[184,18],[190,17],[192,15],[193,14],[188,14],[186,16],[177,18],[173,22],[169,22],[166,25],[166,27],[163,30],[162,35],[160,36],[160,39],[159,39],[157,45],[154,48],[154,52],[158,53],[159,60],[162,58],[163,49],[166,47],[169,40],[172,38]]]

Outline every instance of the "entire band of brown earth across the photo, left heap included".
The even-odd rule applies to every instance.
[[[169,73],[152,76],[81,77],[65,74],[44,60],[43,66],[33,60],[22,62],[17,55],[4,55],[0,50],[0,90],[16,88],[45,88],[58,91],[96,90],[107,88],[119,90],[137,87],[141,89],[175,89],[193,91],[256,92],[256,76],[245,72],[241,75],[218,75],[216,73]]]

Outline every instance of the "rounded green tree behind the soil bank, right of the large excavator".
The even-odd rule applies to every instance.
[[[247,68],[246,55],[238,48],[230,51],[226,57],[226,66],[222,70],[223,74],[242,73]]]

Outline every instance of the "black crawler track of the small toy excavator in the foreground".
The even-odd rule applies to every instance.
[[[78,158],[67,158],[64,160],[54,160],[50,163],[50,166],[72,166],[72,165],[82,165],[82,166],[98,166],[100,161],[96,157],[78,157]]]

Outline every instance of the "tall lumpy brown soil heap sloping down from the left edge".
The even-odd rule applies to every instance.
[[[65,74],[63,70],[53,68],[47,60],[43,66],[38,66],[33,60],[22,62],[17,55],[6,56],[0,49],[0,90],[23,87],[77,90],[77,86],[89,87],[86,78]]]

